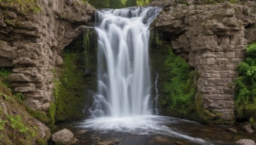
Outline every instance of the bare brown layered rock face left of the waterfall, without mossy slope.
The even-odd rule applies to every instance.
[[[38,0],[36,6],[39,11],[24,11],[18,2],[1,1],[0,67],[13,67],[9,80],[27,106],[47,111],[60,52],[81,34],[94,8],[79,0]]]

